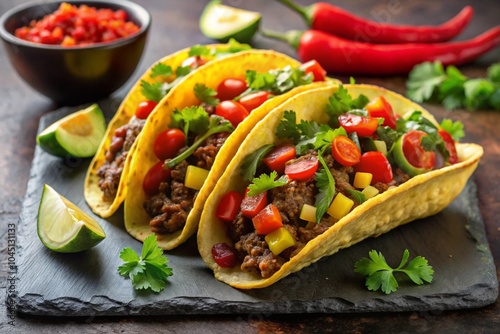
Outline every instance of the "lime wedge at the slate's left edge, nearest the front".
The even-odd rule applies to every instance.
[[[90,249],[106,237],[94,219],[47,184],[38,207],[37,229],[42,243],[60,253]]]

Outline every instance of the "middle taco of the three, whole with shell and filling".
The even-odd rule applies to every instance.
[[[126,230],[141,241],[154,232],[163,249],[187,240],[246,134],[293,94],[334,83],[325,73],[316,62],[251,50],[186,78],[148,118],[137,144],[124,204]]]

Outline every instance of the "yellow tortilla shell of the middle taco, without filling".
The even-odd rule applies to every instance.
[[[170,115],[175,109],[182,110],[185,107],[200,104],[201,101],[193,93],[194,86],[197,83],[203,83],[207,87],[216,89],[226,78],[244,79],[247,70],[267,72],[272,69],[284,68],[286,66],[296,67],[299,65],[299,62],[281,53],[266,50],[250,50],[213,61],[186,77],[180,85],[172,89],[168,100],[165,100],[159,109],[149,116],[145,126],[146,131],[137,143],[128,177],[127,187],[129,191],[126,194],[124,203],[125,228],[127,232],[140,241],[144,241],[152,233],[149,225],[151,217],[143,208],[143,203],[147,200],[147,197],[142,190],[142,181],[151,166],[158,162],[153,152],[153,144],[158,134],[168,128]],[[247,133],[267,115],[269,110],[278,106],[293,94],[312,87],[335,83],[337,81],[331,80],[297,87],[285,94],[273,97],[259,108],[254,109],[250,116],[237,126],[217,154],[214,165],[203,187],[196,196],[184,228],[175,233],[157,234],[158,246],[165,250],[173,249],[196,232],[205,199],[211,193],[225,166],[227,166],[236,153],[239,144],[245,139]]]

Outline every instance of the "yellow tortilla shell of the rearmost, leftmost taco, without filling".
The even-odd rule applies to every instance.
[[[213,45],[207,45],[207,47],[217,49],[217,50],[228,50],[230,48],[230,45],[229,44],[213,44]],[[172,67],[172,69],[175,70],[177,67],[181,66],[181,64],[184,60],[186,60],[189,57],[190,49],[191,48],[186,48],[186,49],[180,50],[176,53],[173,53],[171,55],[168,55],[168,56],[158,60],[153,65],[151,65],[144,72],[144,74],[139,78],[139,80],[137,80],[137,82],[132,87],[132,89],[129,91],[129,93],[127,94],[125,99],[122,101],[122,103],[118,107],[118,110],[116,111],[115,115],[113,116],[113,118],[109,122],[108,128],[107,128],[106,133],[104,135],[104,139],[102,140],[102,142],[99,146],[99,149],[97,150],[97,153],[95,154],[94,158],[92,159],[92,162],[90,163],[90,166],[87,170],[87,175],[85,177],[85,183],[84,183],[85,200],[87,201],[87,204],[92,209],[92,211],[95,214],[99,215],[100,217],[107,218],[107,217],[111,216],[120,207],[121,203],[125,199],[127,182],[124,180],[127,179],[127,175],[129,173],[129,170],[130,170],[130,163],[132,161],[132,156],[134,155],[134,150],[135,150],[136,143],[137,143],[137,139],[136,139],[134,145],[132,145],[132,147],[130,148],[130,151],[128,152],[128,156],[127,156],[127,158],[125,160],[125,164],[123,166],[123,171],[121,174],[120,183],[118,185],[116,197],[111,202],[103,196],[103,192],[99,188],[99,179],[100,178],[97,175],[97,171],[106,162],[106,157],[105,157],[106,151],[109,149],[109,146],[111,144],[111,139],[113,138],[115,130],[118,129],[119,127],[127,124],[130,121],[130,119],[134,116],[135,111],[136,111],[139,103],[145,100],[144,95],[142,94],[142,86],[141,86],[142,81],[146,81],[147,83],[150,83],[150,84],[152,84],[154,82],[159,82],[159,81],[164,82],[165,81],[164,78],[159,78],[159,77],[151,78],[152,69],[158,63],[162,63],[162,64],[165,64],[167,66]],[[210,57],[205,57],[205,58],[210,60]],[[167,82],[172,82],[174,79],[175,79],[175,75],[172,75],[170,78],[167,78]],[[167,99],[168,95],[169,94],[164,96],[162,100]],[[161,101],[158,104],[161,104]]]

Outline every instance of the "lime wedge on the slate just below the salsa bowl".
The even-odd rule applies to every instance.
[[[97,104],[51,124],[37,137],[37,144],[58,157],[92,157],[106,132],[106,119]]]

